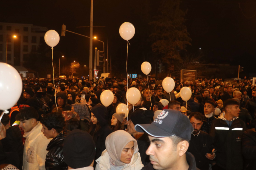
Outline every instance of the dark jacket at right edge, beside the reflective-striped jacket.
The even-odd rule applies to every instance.
[[[246,170],[256,169],[256,131],[255,128],[246,130],[242,136],[242,153],[246,159]]]

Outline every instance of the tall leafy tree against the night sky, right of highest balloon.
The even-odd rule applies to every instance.
[[[149,23],[153,26],[152,51],[164,63],[180,62],[180,51],[191,45],[184,25],[186,12],[180,10],[180,0],[161,0],[158,11],[155,20]]]

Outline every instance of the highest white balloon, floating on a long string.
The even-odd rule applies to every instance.
[[[135,34],[135,28],[130,22],[125,22],[120,26],[119,34],[124,40],[131,40]]]

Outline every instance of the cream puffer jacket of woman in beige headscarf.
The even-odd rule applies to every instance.
[[[102,152],[102,156],[96,160],[96,163],[97,165],[95,170],[111,170],[110,156],[107,150]],[[121,170],[141,170],[143,166],[140,153],[138,152],[132,156],[131,163],[125,164]]]

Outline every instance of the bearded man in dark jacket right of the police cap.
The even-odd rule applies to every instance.
[[[201,131],[204,117],[199,112],[190,114],[190,123],[194,131],[191,134],[188,152],[192,153],[196,159],[196,167],[200,170],[208,170],[210,160],[215,158],[215,153],[210,154],[215,149],[213,148],[212,137],[204,131]]]

